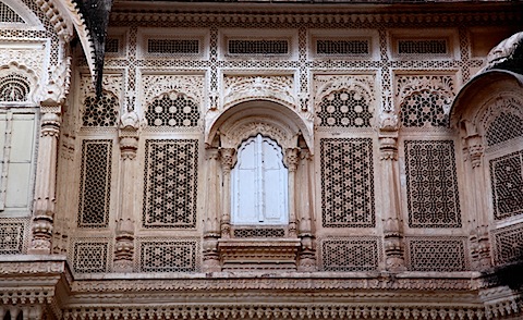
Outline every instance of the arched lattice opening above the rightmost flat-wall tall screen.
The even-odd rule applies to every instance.
[[[401,104],[401,123],[405,127],[447,126],[448,116],[443,111],[447,104],[448,98],[437,93],[412,94]]]

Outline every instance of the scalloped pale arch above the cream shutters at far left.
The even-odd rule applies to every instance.
[[[0,66],[0,90],[2,90],[0,101],[36,103],[34,96],[38,91],[38,83],[35,72],[23,64],[13,61]]]

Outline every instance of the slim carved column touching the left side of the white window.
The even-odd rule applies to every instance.
[[[221,170],[223,173],[223,193],[221,207],[221,237],[231,237],[231,170],[234,165],[235,149],[220,148]]]

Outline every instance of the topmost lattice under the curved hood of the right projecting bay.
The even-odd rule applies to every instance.
[[[494,146],[510,139],[523,137],[523,119],[501,112],[488,126],[485,134],[487,144]]]

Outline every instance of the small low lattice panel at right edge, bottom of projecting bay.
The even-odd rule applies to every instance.
[[[492,238],[495,264],[523,260],[523,224],[496,230]]]

